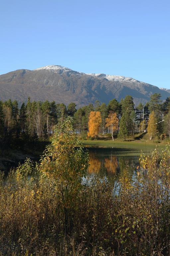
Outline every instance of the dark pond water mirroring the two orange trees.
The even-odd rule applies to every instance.
[[[139,165],[139,156],[130,156],[127,154],[120,154],[112,149],[88,149],[89,151],[89,168],[90,174],[101,174],[102,176],[114,176],[122,172],[127,166],[129,171],[137,172],[136,166]]]

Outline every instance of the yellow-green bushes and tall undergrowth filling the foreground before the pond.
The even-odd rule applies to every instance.
[[[168,145],[141,155],[138,178],[84,179],[88,155],[59,122],[40,164],[1,173],[0,255],[170,255],[169,161]]]

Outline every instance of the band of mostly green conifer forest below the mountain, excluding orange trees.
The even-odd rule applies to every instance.
[[[165,102],[160,98],[161,95],[155,93],[151,95],[149,102],[145,105],[139,103],[137,107],[134,107],[133,98],[129,95],[120,102],[112,99],[106,105],[96,101],[94,105],[89,104],[81,108],[76,108],[73,102],[66,106],[63,103],[57,104],[47,100],[31,102],[30,98],[21,107],[16,100],[0,101],[0,142],[7,142],[9,138],[14,141],[46,140],[53,133],[53,127],[58,120],[62,121],[67,116],[73,117],[77,132],[86,136],[91,111],[99,111],[101,114],[102,122],[99,128],[101,134],[111,132],[106,126],[106,118],[109,113],[116,113],[119,122],[115,134],[119,133],[123,138],[136,132],[144,132],[148,126],[149,114],[154,111],[156,118],[154,128],[157,136],[162,138],[170,134],[170,97]]]

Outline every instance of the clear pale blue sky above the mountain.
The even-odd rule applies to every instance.
[[[0,74],[50,64],[170,88],[170,1],[0,1]]]

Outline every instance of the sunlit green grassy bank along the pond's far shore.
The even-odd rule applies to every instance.
[[[159,149],[165,148],[165,143],[148,142],[144,140],[133,140],[133,141],[120,141],[120,140],[84,140],[83,145],[85,147],[97,147],[97,148],[113,148],[114,151],[128,151],[140,153],[152,152],[155,146],[158,145]]]

